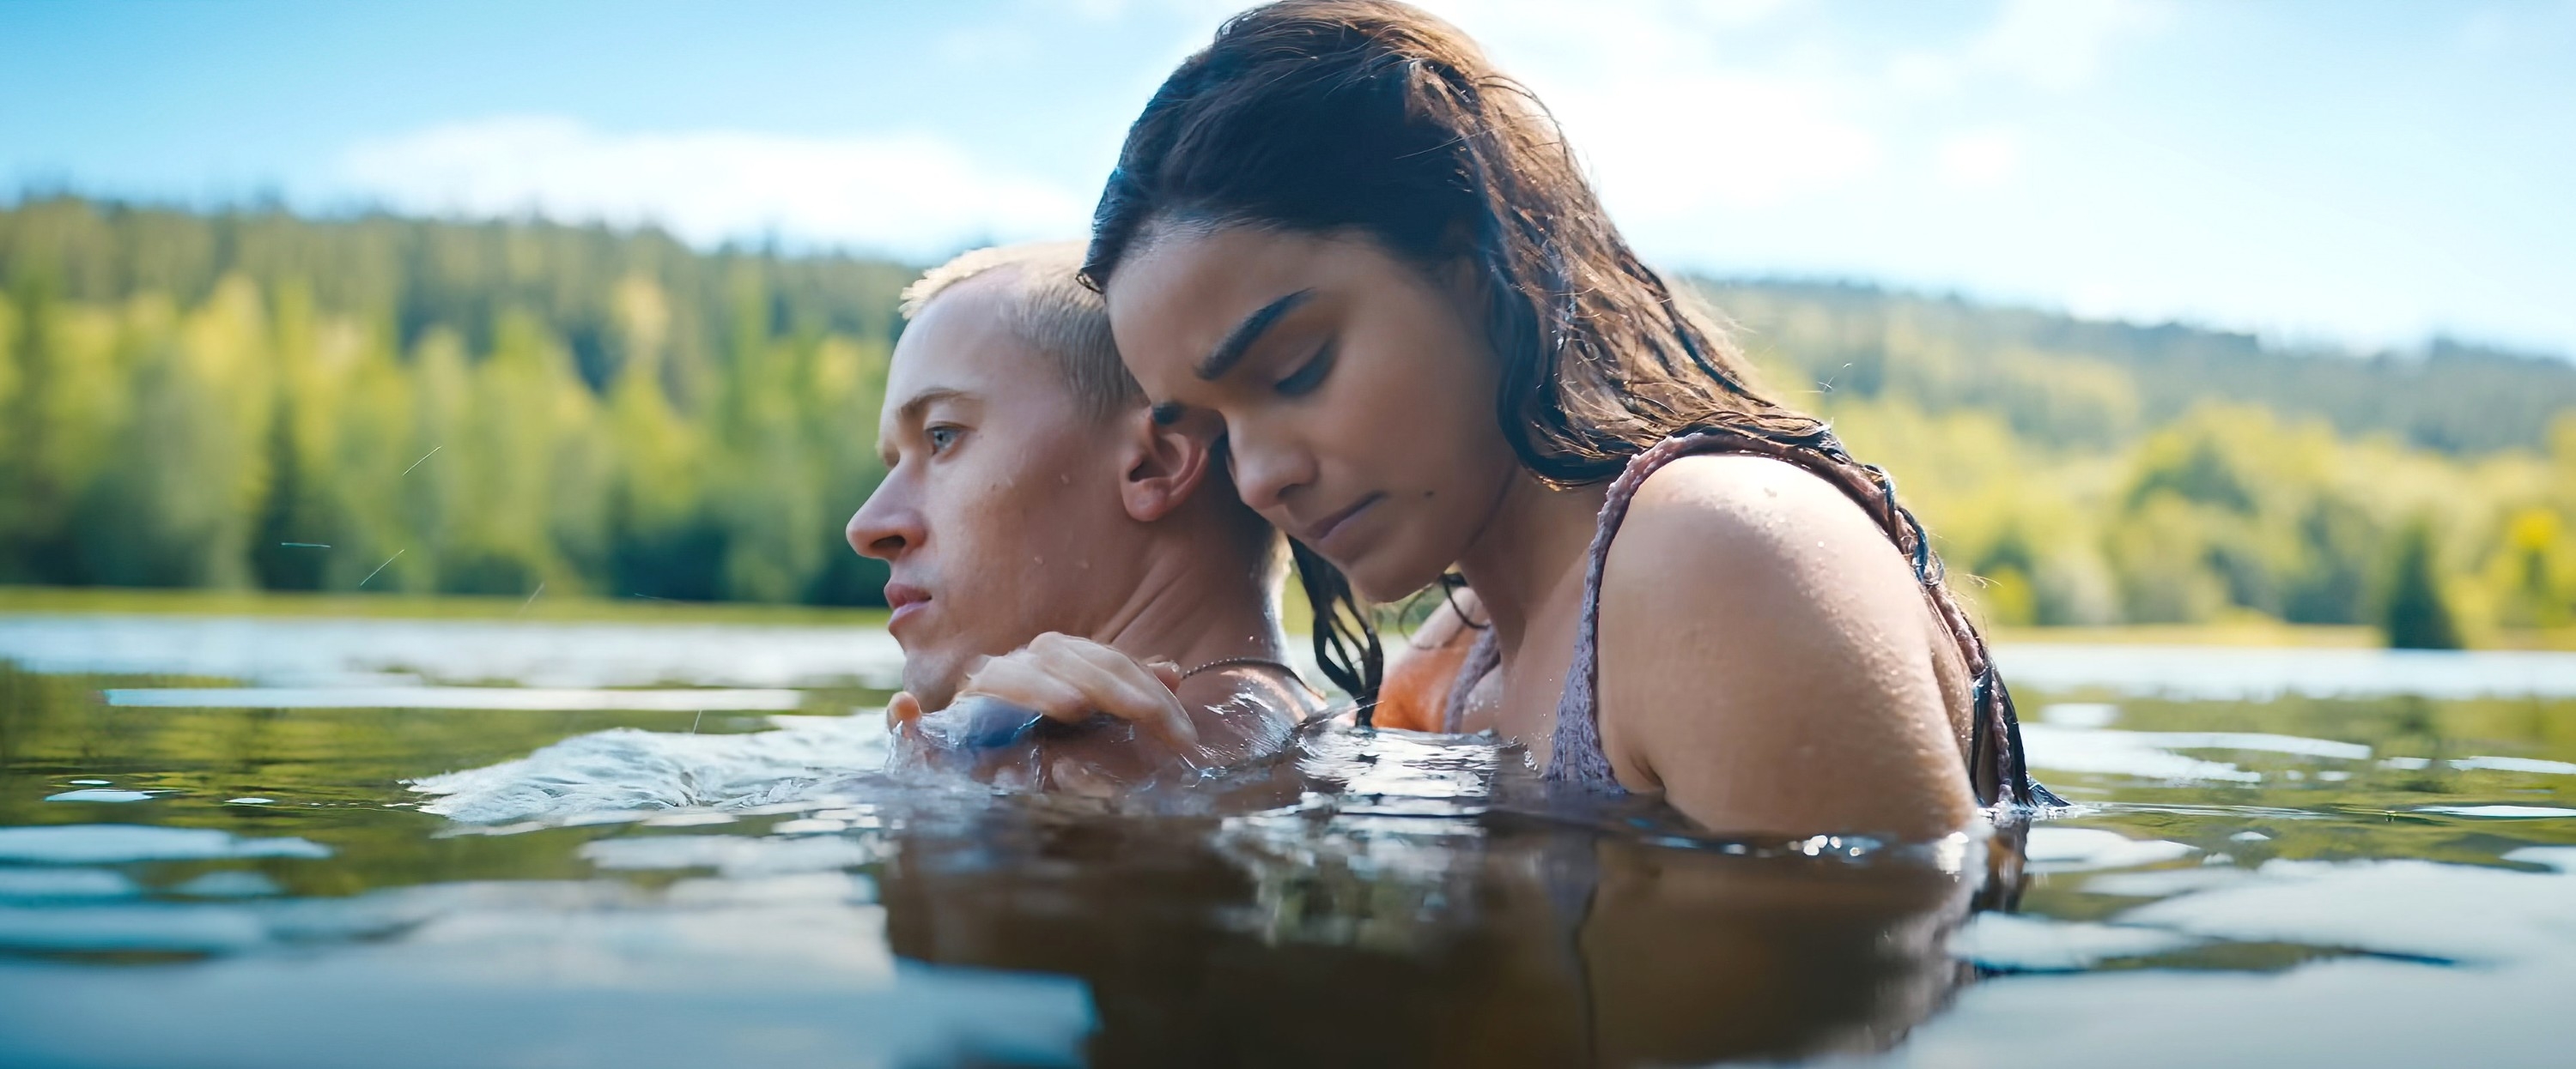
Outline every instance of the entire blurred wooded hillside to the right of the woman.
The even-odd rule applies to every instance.
[[[2277,353],[1829,286],[1710,299],[1775,386],[1899,477],[1994,621],[2455,644],[2576,618],[2563,361]]]

